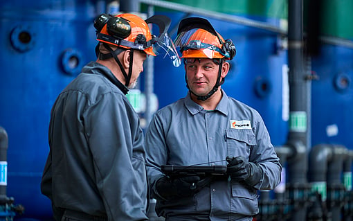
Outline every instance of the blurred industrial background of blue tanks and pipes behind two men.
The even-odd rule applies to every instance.
[[[96,60],[102,12],[168,15],[172,39],[181,19],[204,17],[233,40],[222,87],[260,112],[284,166],[254,220],[353,219],[352,0],[12,0],[0,2],[0,220],[52,220],[39,186],[51,106]],[[167,61],[149,58],[128,94],[143,125],[187,93]]]

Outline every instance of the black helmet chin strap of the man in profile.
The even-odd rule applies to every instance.
[[[116,62],[118,63],[118,65],[120,67],[120,70],[123,73],[123,76],[125,77],[125,86],[129,87],[130,80],[131,80],[131,77],[132,77],[132,63],[133,63],[133,60],[134,60],[134,49],[129,48],[129,50],[130,50],[130,53],[129,53],[130,61],[129,61],[129,73],[127,74],[125,69],[123,68],[123,65],[121,64],[120,60],[118,60],[118,54],[117,54],[118,49],[116,49],[114,51],[113,49],[111,49],[111,47],[108,44],[103,43],[103,45],[105,46],[105,48],[107,48],[109,53],[103,54],[101,52],[98,52],[98,58],[100,60],[107,60],[109,58],[114,58],[114,60],[116,60]],[[98,43],[98,46],[99,46],[99,43]]]

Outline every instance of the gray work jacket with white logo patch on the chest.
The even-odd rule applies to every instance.
[[[257,190],[280,182],[281,165],[260,114],[222,90],[215,110],[206,111],[190,94],[160,109],[145,134],[147,175],[156,211],[167,220],[251,220],[259,212]],[[226,165],[226,157],[244,156],[263,170],[255,186],[237,180],[211,182],[194,197],[161,200],[156,180],[160,166]],[[202,219],[204,218],[204,219]]]

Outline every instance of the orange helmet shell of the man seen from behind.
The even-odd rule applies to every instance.
[[[147,25],[146,21],[141,19],[141,17],[134,15],[134,14],[129,14],[129,13],[124,13],[124,14],[119,14],[116,15],[115,17],[122,17],[129,21],[129,25],[131,26],[131,33],[129,36],[127,36],[124,40],[128,42],[135,42],[135,39],[137,35],[141,34],[146,37],[146,42],[150,41],[152,39],[152,34],[150,31],[149,26]],[[103,26],[102,30],[100,30],[100,33],[109,35],[107,31],[107,24]],[[98,39],[100,42],[105,42],[102,39]],[[108,44],[112,44],[111,42],[106,42]],[[116,45],[116,44],[115,44]],[[123,46],[123,45],[116,45],[122,48],[129,48],[128,46]],[[156,56],[156,54],[153,51],[152,46],[145,48],[143,51],[147,53],[147,55],[153,55]]]

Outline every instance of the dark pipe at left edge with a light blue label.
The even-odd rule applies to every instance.
[[[7,170],[8,170],[8,133],[3,127],[0,127],[0,202],[7,202]]]

